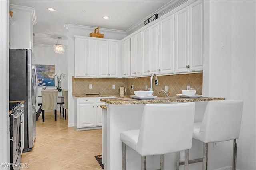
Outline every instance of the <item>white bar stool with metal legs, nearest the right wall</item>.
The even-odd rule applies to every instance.
[[[203,158],[190,160],[190,163],[203,162],[203,170],[207,170],[208,143],[234,140],[233,142],[233,170],[236,170],[237,139],[242,121],[242,100],[209,101],[202,122],[194,123],[193,138],[203,142]],[[179,153],[177,153],[178,155]],[[177,159],[178,165],[183,165]]]

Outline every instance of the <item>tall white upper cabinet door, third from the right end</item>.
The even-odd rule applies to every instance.
[[[174,15],[159,23],[159,74],[174,73]]]

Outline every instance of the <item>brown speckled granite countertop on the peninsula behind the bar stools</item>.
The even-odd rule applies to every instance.
[[[181,98],[181,97],[157,97],[154,99],[139,100],[134,98],[102,98],[101,102],[108,104],[149,104],[149,103],[172,103],[172,102],[200,102],[211,100],[225,100],[222,97],[199,97],[199,98]]]

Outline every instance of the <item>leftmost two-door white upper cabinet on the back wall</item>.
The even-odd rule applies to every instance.
[[[98,76],[98,41],[76,38],[75,40],[75,77]]]

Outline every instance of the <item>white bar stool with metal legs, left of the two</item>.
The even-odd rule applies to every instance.
[[[146,104],[140,129],[120,134],[122,170],[126,169],[126,145],[141,155],[141,170],[146,170],[146,156],[160,155],[160,170],[163,170],[164,154],[190,149],[194,113],[194,102]],[[188,156],[185,159],[188,162]]]

